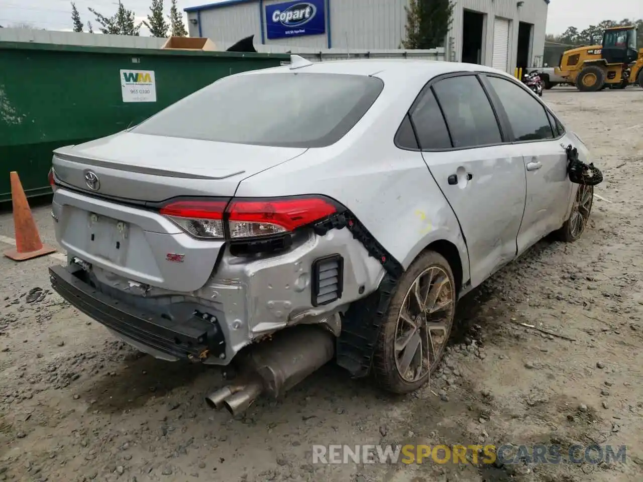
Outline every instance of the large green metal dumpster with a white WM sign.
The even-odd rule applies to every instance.
[[[0,202],[51,193],[51,151],[127,129],[218,78],[288,55],[0,42]]]

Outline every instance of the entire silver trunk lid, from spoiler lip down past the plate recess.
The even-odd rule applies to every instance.
[[[57,240],[69,254],[123,278],[113,276],[110,285],[192,292],[212,276],[224,242],[192,238],[149,205],[179,196],[230,198],[242,179],[305,150],[131,132],[59,148]]]

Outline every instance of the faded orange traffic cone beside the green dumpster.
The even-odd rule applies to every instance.
[[[55,253],[53,247],[42,244],[18,173],[12,171],[10,176],[11,200],[14,204],[15,249],[5,251],[5,256],[15,261],[24,261]]]

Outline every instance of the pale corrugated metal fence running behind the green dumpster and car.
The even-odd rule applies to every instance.
[[[9,42],[37,42],[41,44],[82,45],[95,47],[123,47],[158,49],[167,39],[154,37],[133,37],[129,35],[103,35],[73,31],[31,30],[28,28],[0,28],[0,40]],[[341,48],[312,49],[284,45],[255,44],[263,53],[294,53],[314,61],[340,60],[343,58],[422,58],[425,60],[444,60],[445,49],[428,50],[347,50]]]

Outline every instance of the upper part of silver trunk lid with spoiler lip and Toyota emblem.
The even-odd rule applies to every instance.
[[[59,181],[76,189],[159,202],[177,196],[231,196],[242,179],[305,151],[123,131],[58,148],[53,168]],[[97,183],[87,183],[88,172]]]

